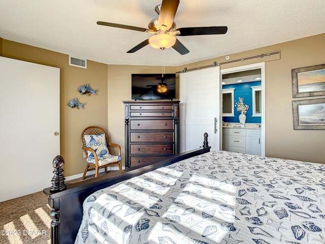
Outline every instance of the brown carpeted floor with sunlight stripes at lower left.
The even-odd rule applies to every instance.
[[[100,173],[102,174],[105,172]],[[93,177],[94,175],[90,175],[86,179]],[[79,181],[81,178],[67,182]],[[43,192],[0,202],[0,243],[51,243],[50,211],[47,197]]]

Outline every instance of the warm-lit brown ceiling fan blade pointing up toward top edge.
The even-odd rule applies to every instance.
[[[166,25],[167,31],[172,27],[179,0],[163,0],[158,17],[158,25]]]

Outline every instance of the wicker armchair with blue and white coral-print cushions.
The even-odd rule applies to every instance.
[[[110,155],[107,150],[102,150],[106,151],[106,154],[98,154],[96,153],[96,149],[93,149],[90,144],[94,143],[89,143],[87,146],[87,142],[85,139],[85,135],[89,135],[95,143],[96,140],[93,139],[93,136],[100,136],[101,134],[105,134],[105,142],[107,143],[107,148],[109,147],[117,147],[118,148],[118,156],[113,156]],[[89,137],[88,136],[88,137]],[[113,144],[109,143],[109,138],[107,133],[105,132],[104,129],[98,127],[98,126],[89,126],[85,128],[82,133],[81,133],[81,144],[82,144],[82,149],[87,156],[87,166],[85,169],[85,172],[83,173],[82,179],[85,178],[87,171],[95,170],[95,177],[98,177],[99,175],[99,170],[101,168],[105,168],[105,172],[107,173],[107,167],[112,166],[112,165],[117,165],[119,170],[122,170],[122,164],[121,164],[121,147],[118,144]],[[101,152],[102,153],[102,152]]]

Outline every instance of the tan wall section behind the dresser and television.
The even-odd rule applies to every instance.
[[[124,104],[131,100],[131,74],[160,73],[161,66],[108,66],[108,129],[111,141],[121,146],[124,165]],[[166,67],[166,73],[175,73],[176,67]]]

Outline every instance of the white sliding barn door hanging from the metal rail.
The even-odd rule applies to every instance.
[[[203,145],[203,134],[209,134],[211,150],[220,149],[220,69],[181,73],[179,75],[180,150]]]

